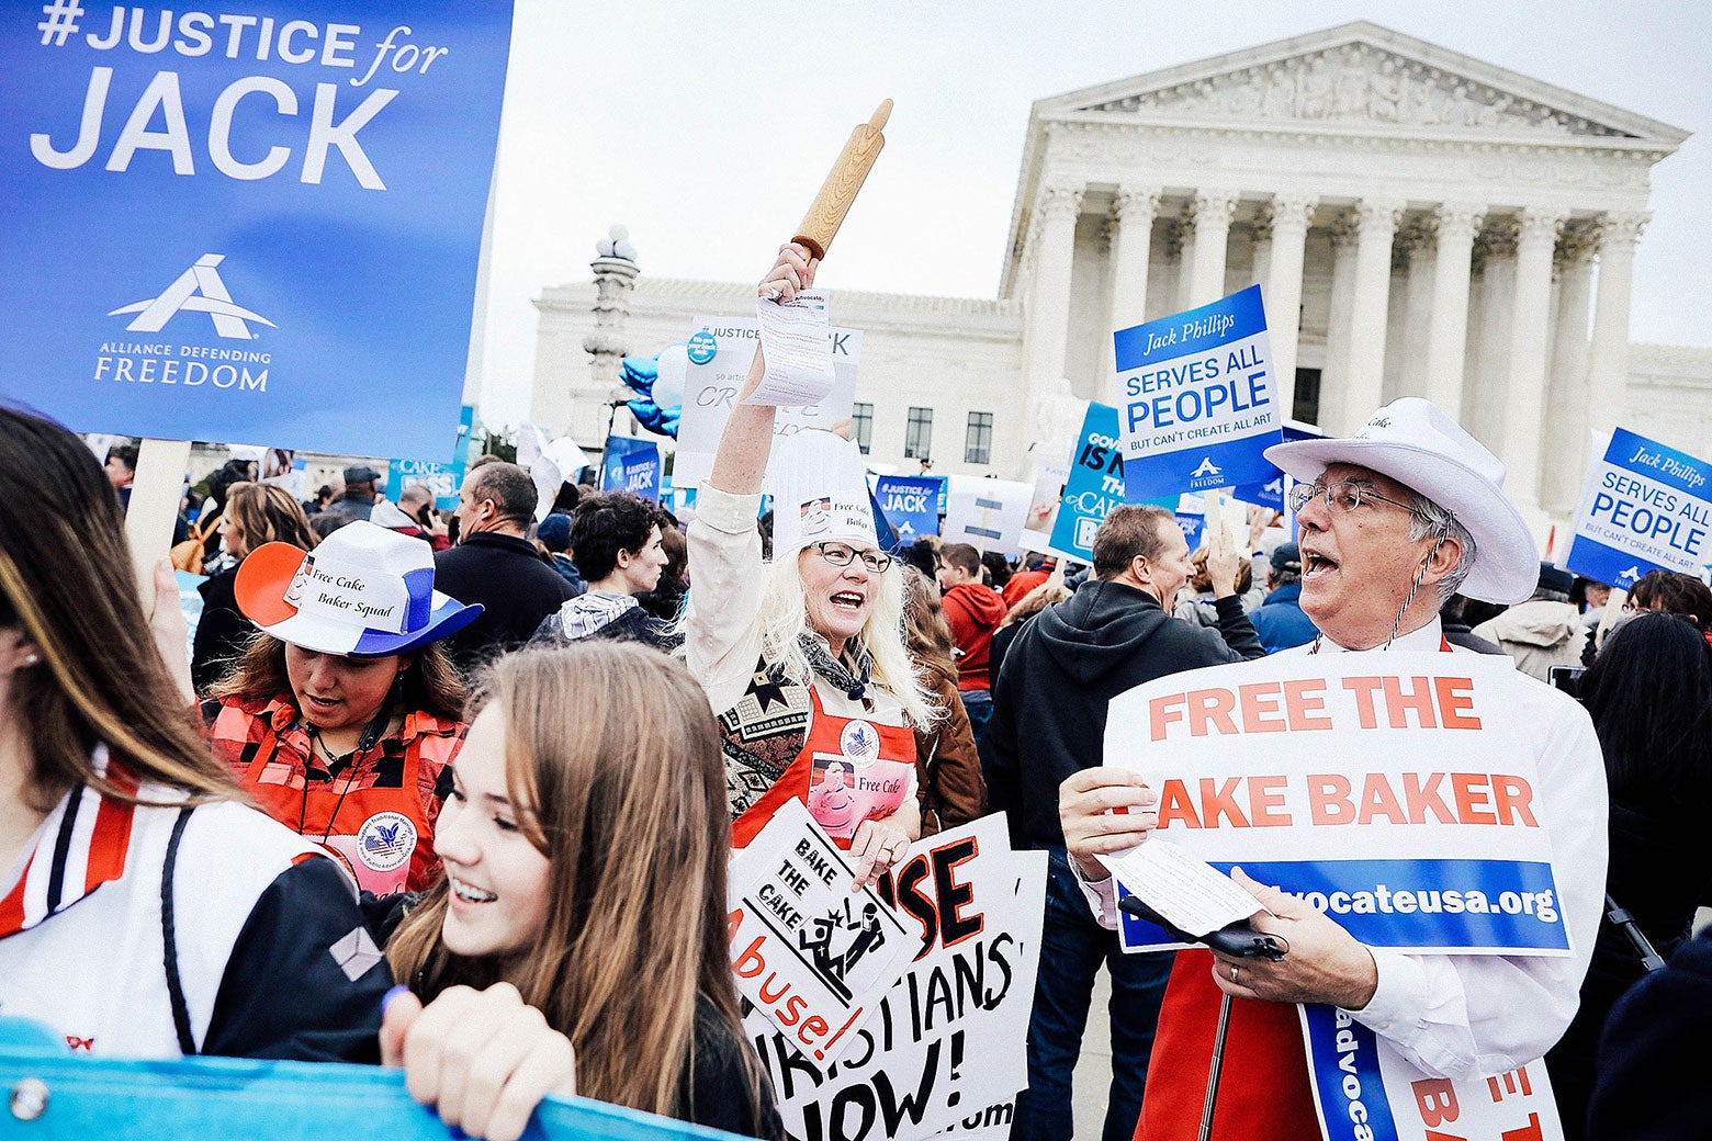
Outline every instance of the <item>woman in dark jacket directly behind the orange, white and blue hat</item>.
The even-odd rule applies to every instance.
[[[190,681],[197,693],[207,693],[209,686],[229,674],[255,636],[255,623],[238,611],[235,594],[245,556],[267,542],[289,542],[300,551],[313,551],[320,542],[310,530],[303,505],[277,484],[233,484],[219,517],[219,534],[226,554],[236,561],[197,585],[202,618],[197,619],[190,650]]]

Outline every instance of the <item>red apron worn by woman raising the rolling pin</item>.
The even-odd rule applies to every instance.
[[[808,814],[841,848],[865,819],[890,816],[916,772],[916,734],[861,717],[832,717],[808,689],[811,712],[803,751],[741,816],[731,823],[731,847],[746,847],[786,801],[803,801]]]

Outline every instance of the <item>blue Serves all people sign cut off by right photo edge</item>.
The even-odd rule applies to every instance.
[[[1628,590],[1650,570],[1712,573],[1712,464],[1618,428],[1575,510],[1565,566]]]

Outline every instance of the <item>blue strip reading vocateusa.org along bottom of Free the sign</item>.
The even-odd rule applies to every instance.
[[[1236,864],[1212,862],[1222,872]],[[1368,946],[1399,949],[1566,951],[1568,931],[1551,864],[1519,860],[1243,862]],[[1123,891],[1121,884],[1118,888]],[[1123,891],[1128,895],[1126,891]],[[1171,943],[1120,912],[1123,944]]]

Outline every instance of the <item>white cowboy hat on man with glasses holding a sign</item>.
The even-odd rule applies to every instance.
[[[1474,535],[1474,566],[1460,594],[1501,604],[1534,594],[1539,547],[1503,494],[1503,464],[1433,402],[1392,400],[1349,440],[1275,443],[1267,458],[1303,482],[1313,482],[1332,464],[1390,476],[1452,511]]]

